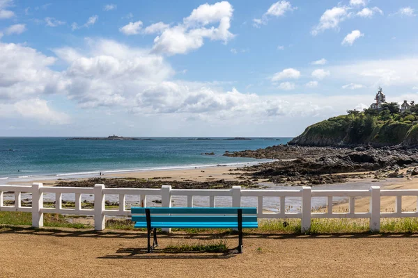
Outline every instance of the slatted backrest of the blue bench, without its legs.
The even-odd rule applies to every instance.
[[[159,208],[151,207],[151,222],[237,222],[238,209],[242,223],[257,222],[257,208]],[[132,221],[146,222],[146,208],[131,208]]]

